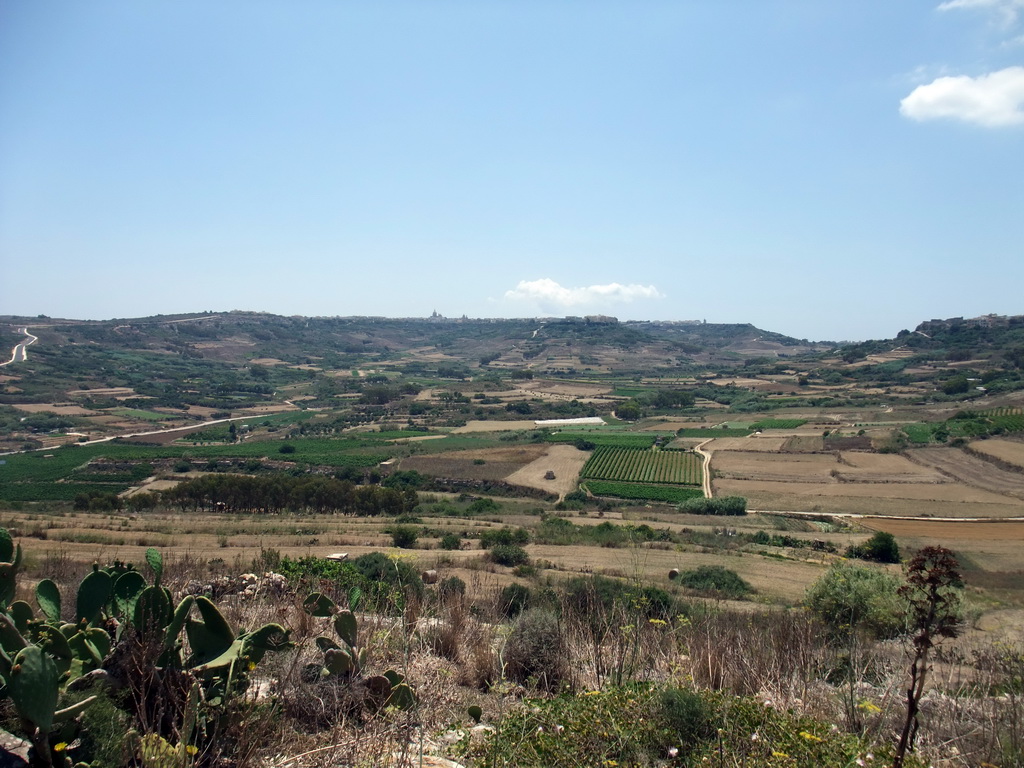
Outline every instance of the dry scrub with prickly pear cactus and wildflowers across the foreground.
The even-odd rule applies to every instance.
[[[381,552],[263,550],[233,573],[151,548],[83,572],[6,530],[0,560],[5,744],[38,766],[1024,759],[1024,653],[957,639],[941,548],[901,575],[837,560],[793,609],[695,597],[749,594],[723,567],[502,588]]]

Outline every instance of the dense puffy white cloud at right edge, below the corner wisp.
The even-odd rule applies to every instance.
[[[938,78],[914,88],[899,111],[912,120],[952,118],[989,128],[1024,124],[1024,67]]]

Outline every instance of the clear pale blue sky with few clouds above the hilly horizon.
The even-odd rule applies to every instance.
[[[0,313],[1024,313],[1024,0],[0,0]]]

